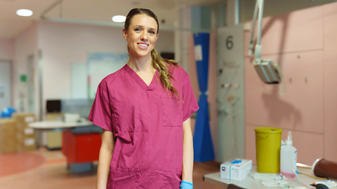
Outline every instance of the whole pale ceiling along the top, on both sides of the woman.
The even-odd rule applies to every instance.
[[[57,0],[0,0],[0,38],[14,38]],[[46,13],[47,18],[112,22],[113,15],[126,15],[131,8],[150,8],[159,18],[161,27],[173,27],[177,11],[184,6],[210,6],[226,0],[63,0]],[[264,16],[289,13],[293,10],[319,6],[336,0],[265,0]],[[251,20],[255,0],[240,0],[240,20]],[[31,17],[20,17],[16,10],[33,10]]]

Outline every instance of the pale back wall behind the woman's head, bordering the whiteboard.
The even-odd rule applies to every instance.
[[[158,53],[174,52],[174,32],[159,31],[155,48]],[[60,22],[39,22],[39,49],[43,62],[43,107],[46,99],[71,98],[70,64],[86,63],[87,52],[127,52],[122,28]]]

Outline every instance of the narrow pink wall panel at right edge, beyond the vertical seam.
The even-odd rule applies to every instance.
[[[337,3],[324,10],[324,158],[337,161]]]

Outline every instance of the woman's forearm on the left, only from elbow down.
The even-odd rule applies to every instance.
[[[110,161],[112,157],[112,151],[100,147],[100,157],[98,158],[98,169],[97,169],[97,189],[105,189],[107,188],[107,179],[109,177],[110,172]]]

